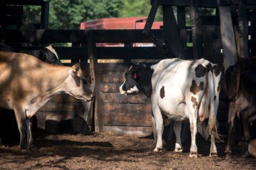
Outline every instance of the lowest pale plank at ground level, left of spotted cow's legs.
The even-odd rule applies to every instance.
[[[103,131],[115,132],[118,134],[131,134],[139,136],[149,136],[152,134],[151,127],[140,127],[140,126],[103,126]]]

